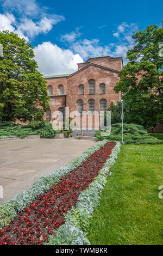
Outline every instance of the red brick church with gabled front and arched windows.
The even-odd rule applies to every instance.
[[[111,101],[117,103],[121,99],[121,93],[115,93],[114,87],[120,81],[118,74],[122,69],[122,57],[102,56],[78,63],[78,70],[72,74],[45,76],[50,96],[46,121],[60,119],[65,107],[70,112],[78,111],[81,119],[83,111],[92,116],[95,111],[99,115],[105,112]],[[56,117],[55,111],[60,116]]]

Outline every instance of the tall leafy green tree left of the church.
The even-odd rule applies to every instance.
[[[37,71],[33,47],[17,34],[0,32],[0,120],[43,121],[48,105],[46,81]]]

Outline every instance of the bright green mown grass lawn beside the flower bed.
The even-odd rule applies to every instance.
[[[123,145],[93,213],[91,245],[163,245],[163,145]]]

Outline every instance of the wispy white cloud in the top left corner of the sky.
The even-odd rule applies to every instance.
[[[34,38],[35,35],[41,33],[47,33],[58,22],[65,20],[64,16],[49,14],[49,11],[47,12],[48,8],[40,7],[35,0],[5,0],[3,9],[5,13],[1,17],[1,20],[3,18],[2,22],[0,21],[2,23],[1,27],[9,28],[9,31],[14,32],[16,27],[18,35],[26,39]],[[5,29],[3,28],[3,30]]]

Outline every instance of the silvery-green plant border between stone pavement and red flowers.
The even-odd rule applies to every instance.
[[[89,156],[91,156],[96,150],[101,148],[107,142],[109,141],[104,140],[89,148],[82,155],[77,157],[77,159],[65,164],[65,166],[55,170],[48,176],[42,176],[39,180],[34,182],[32,187],[24,190],[14,199],[0,205],[0,228],[8,225],[10,221],[16,217],[18,212],[30,205],[36,197],[40,196],[42,193],[45,193],[49,190],[49,188],[57,184],[62,176],[65,176],[66,174],[72,172],[73,169],[79,167],[80,164],[82,164]]]

